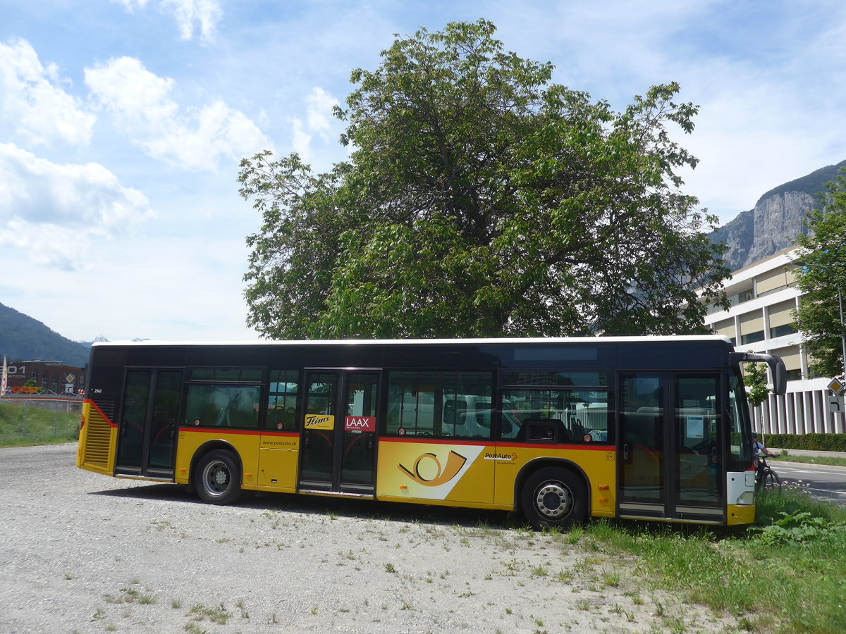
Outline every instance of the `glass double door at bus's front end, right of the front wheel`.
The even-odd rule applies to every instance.
[[[619,515],[724,522],[718,373],[620,377]]]

